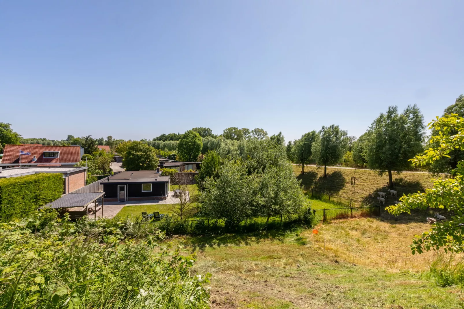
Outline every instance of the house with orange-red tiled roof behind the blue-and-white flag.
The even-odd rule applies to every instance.
[[[23,155],[19,152],[23,151]],[[30,154],[30,155],[29,155]],[[73,146],[5,145],[0,166],[60,167],[74,166],[84,155],[84,148]]]

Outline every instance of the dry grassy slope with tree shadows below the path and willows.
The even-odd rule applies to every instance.
[[[304,175],[301,174],[301,166],[294,165],[293,170],[298,179],[302,180],[303,188],[308,193],[314,188],[316,190],[334,193],[355,200],[361,200],[366,204],[378,204],[377,192],[387,192],[388,175],[379,176],[376,172],[370,170],[327,168],[328,177],[322,177],[324,168],[304,167]],[[356,177],[356,184],[350,184],[351,177]],[[446,175],[441,175],[447,177]],[[432,187],[432,174],[427,173],[400,173],[393,174],[393,184],[398,191],[398,198],[403,194],[423,191]],[[390,197],[386,205],[392,205],[398,198]]]

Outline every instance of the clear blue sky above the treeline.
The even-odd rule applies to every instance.
[[[0,121],[24,137],[196,126],[359,136],[464,93],[463,1],[2,1]]]

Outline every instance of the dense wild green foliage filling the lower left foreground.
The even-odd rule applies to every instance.
[[[0,225],[0,308],[207,308],[193,257],[157,250],[153,225],[56,219]]]

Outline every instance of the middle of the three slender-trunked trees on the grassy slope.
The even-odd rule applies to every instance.
[[[327,166],[339,163],[348,149],[347,131],[341,130],[335,124],[322,126],[314,142],[313,155],[317,165],[324,167],[324,177],[327,176]]]

